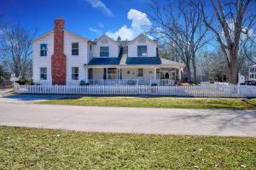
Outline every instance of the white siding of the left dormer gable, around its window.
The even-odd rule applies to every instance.
[[[102,39],[107,39],[108,43],[102,43]],[[93,47],[93,56],[100,57],[100,48],[109,47],[109,57],[118,57],[119,56],[119,45],[108,37],[102,37],[96,42],[96,45]]]

